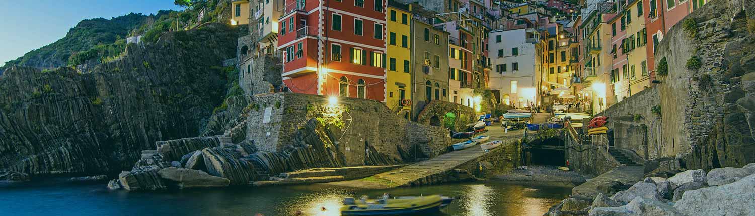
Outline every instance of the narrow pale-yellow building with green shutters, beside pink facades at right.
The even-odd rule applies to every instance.
[[[621,19],[624,19],[624,24],[627,25],[627,36],[622,47],[623,51],[627,53],[629,96],[633,96],[650,85],[646,50],[647,30],[645,29],[642,2],[631,0],[624,7],[622,13],[624,13],[624,16]]]

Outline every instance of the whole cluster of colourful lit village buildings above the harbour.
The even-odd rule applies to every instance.
[[[656,45],[706,0],[233,1],[242,89],[599,113],[657,83]],[[273,57],[270,66],[254,63]],[[271,62],[271,63],[270,63]],[[273,73],[273,75],[270,75]]]

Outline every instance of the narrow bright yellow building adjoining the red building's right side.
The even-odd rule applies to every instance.
[[[411,5],[388,1],[386,105],[388,108],[411,109],[404,99],[411,99]]]

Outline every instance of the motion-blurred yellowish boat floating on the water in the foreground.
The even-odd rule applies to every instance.
[[[402,196],[393,199],[344,199],[341,215],[408,215],[431,214],[440,211],[454,201],[440,195]]]

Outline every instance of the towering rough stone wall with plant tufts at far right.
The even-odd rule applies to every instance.
[[[755,162],[755,37],[747,31],[753,10],[751,1],[711,1],[685,18],[696,28],[683,28],[683,20],[658,45],[656,65],[668,62],[668,75],[658,78],[661,155],[678,154],[683,168]],[[687,67],[693,56],[699,68]]]

